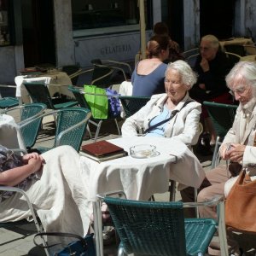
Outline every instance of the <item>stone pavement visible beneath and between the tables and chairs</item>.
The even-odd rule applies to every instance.
[[[39,145],[50,146],[53,143],[54,130],[52,129],[53,119],[44,119],[44,131],[40,132],[38,137],[38,141],[35,145],[35,148]],[[113,127],[113,131],[109,131],[109,128]],[[114,137],[118,137],[117,131],[114,129],[114,125],[109,122],[103,122],[102,124],[102,132],[100,139],[110,139]],[[91,139],[85,139],[83,144],[91,143]],[[199,160],[201,160],[204,169],[209,170],[211,165],[212,156],[202,156],[196,154]],[[169,201],[169,193],[166,192],[164,194],[154,195],[156,201]],[[180,194],[177,191],[176,200],[180,200]],[[36,229],[33,224],[26,224],[19,227],[12,228],[1,228],[0,229],[0,256],[23,256],[23,255],[35,255],[35,256],[43,256],[45,255],[44,249],[35,247],[33,244],[33,236],[36,233]],[[239,234],[238,234],[239,235]],[[237,236],[238,236],[237,235]],[[243,244],[248,244],[248,241],[256,241],[255,237],[252,237],[248,240],[248,236],[242,238]],[[250,243],[250,242],[249,242]],[[252,243],[253,244],[253,243]],[[256,242],[254,243],[256,245]],[[117,247],[116,245],[104,247],[104,254],[107,256],[115,256],[117,255]],[[255,255],[255,247],[253,254]]]

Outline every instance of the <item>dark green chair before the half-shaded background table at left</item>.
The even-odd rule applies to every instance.
[[[43,83],[24,83],[26,90],[32,98],[32,102],[44,103],[47,108],[61,109],[69,108],[78,104],[75,101],[59,102],[59,99],[54,99],[49,95],[47,86]]]

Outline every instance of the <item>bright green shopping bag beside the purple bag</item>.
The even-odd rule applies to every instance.
[[[108,96],[106,96],[106,90],[95,85],[84,84],[84,92],[92,117],[95,119],[108,119]]]

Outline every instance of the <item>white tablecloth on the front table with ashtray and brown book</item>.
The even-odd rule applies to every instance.
[[[155,193],[168,190],[169,179],[198,188],[205,177],[199,160],[183,143],[162,137],[126,137],[109,140],[130,154],[138,144],[152,144],[160,153],[148,159],[127,157],[97,163],[81,156],[84,180],[90,191],[89,201],[96,194],[124,190],[129,199],[148,200]],[[177,163],[175,157],[177,156]]]

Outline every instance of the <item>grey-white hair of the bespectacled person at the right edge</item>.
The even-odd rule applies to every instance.
[[[237,62],[226,76],[227,86],[230,88],[235,80],[240,80],[241,83],[254,86],[256,89],[256,62]]]

